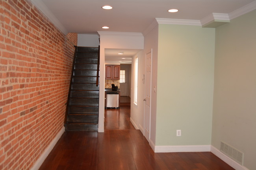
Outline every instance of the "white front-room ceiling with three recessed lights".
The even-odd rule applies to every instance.
[[[32,0],[52,13],[67,32],[142,33],[154,18],[202,20],[212,13],[231,13],[254,0]],[[113,9],[101,7],[111,5]],[[37,5],[38,6],[38,5]],[[179,9],[169,13],[169,9]],[[109,29],[102,29],[109,26]]]

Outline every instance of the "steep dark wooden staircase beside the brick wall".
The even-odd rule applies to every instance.
[[[65,131],[97,131],[99,48],[75,46]]]

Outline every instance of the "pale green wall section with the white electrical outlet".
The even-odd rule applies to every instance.
[[[158,29],[156,145],[210,145],[215,29]]]

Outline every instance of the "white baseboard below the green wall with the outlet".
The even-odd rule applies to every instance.
[[[153,150],[156,153],[163,153],[163,152],[210,152],[211,145],[154,146]]]

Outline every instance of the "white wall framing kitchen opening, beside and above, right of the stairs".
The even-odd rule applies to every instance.
[[[143,49],[144,37],[141,33],[98,31],[100,35],[100,99],[98,132],[104,132],[104,84],[105,49]],[[103,84],[103,86],[101,86]]]

